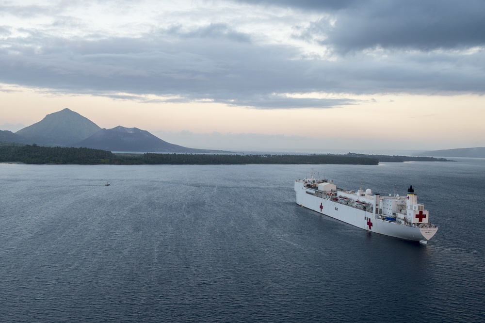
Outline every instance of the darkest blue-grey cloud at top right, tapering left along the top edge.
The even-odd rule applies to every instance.
[[[242,1],[329,13],[300,37],[322,39],[339,53],[368,48],[460,49],[485,46],[485,2],[409,1]]]

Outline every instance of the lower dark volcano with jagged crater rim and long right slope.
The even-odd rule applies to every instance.
[[[125,128],[121,126],[113,129],[101,129],[92,136],[74,144],[73,146],[126,152],[223,152],[221,150],[195,149],[170,144],[146,130]]]

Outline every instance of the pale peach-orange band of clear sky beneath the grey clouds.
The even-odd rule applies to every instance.
[[[2,87],[5,89],[5,86]],[[334,109],[251,109],[220,103],[142,103],[89,95],[52,95],[11,87],[0,92],[1,124],[36,123],[69,108],[101,128],[150,132],[259,133],[305,136],[346,143],[413,140],[485,146],[482,107],[476,95],[351,97],[362,103]],[[463,144],[461,144],[463,143]],[[390,145],[390,144],[389,144]]]

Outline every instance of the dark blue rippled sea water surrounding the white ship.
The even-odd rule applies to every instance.
[[[423,246],[300,208],[307,165],[0,164],[1,321],[485,320],[485,160],[313,168],[412,184],[440,229]]]

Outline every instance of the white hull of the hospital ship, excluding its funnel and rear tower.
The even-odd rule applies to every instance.
[[[295,181],[295,192],[296,203],[298,205],[366,231],[426,243],[438,230],[436,226],[428,224],[427,219],[425,224],[413,224],[406,223],[404,214],[403,220],[400,220],[399,216],[396,218],[395,213],[385,214],[384,212],[383,214],[382,210],[379,209],[379,199],[385,201],[387,198],[381,198],[379,195],[364,196],[359,194],[359,197],[354,198],[354,201],[358,198],[360,201],[357,200],[357,202],[363,202],[365,205],[373,206],[366,210],[366,208],[357,209],[355,206],[339,203],[336,201],[338,199],[337,197],[334,198],[335,200],[329,199],[328,194],[322,194],[316,188],[308,188],[305,180]],[[347,200],[351,199],[353,194],[356,195],[355,193],[347,193],[339,190],[336,190],[334,194],[340,197],[343,195]],[[391,218],[388,215],[394,215],[394,217]],[[421,220],[423,219],[421,218]]]

